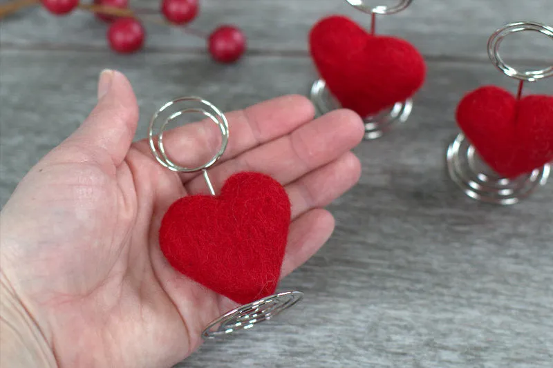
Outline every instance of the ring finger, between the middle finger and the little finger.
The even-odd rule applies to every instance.
[[[292,219],[317,207],[328,206],[346,193],[361,176],[361,163],[350,152],[312,171],[285,189],[292,203]]]

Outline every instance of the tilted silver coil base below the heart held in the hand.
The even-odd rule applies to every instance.
[[[241,329],[250,329],[256,323],[277,316],[302,298],[303,293],[301,291],[286,291],[245,304],[225,313],[225,315],[210,323],[203,330],[202,337],[204,339],[218,338]]]

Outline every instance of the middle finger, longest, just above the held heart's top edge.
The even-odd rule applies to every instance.
[[[335,110],[300,126],[290,135],[247,151],[209,170],[215,191],[227,178],[240,171],[270,175],[285,185],[319,166],[350,151],[363,139],[364,127],[359,115],[350,110]],[[186,185],[188,193],[207,193],[203,177]]]

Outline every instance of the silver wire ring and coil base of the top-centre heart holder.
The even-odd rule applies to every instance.
[[[372,26],[374,30],[375,14],[395,14],[407,8],[413,0],[401,0],[396,6],[376,6],[371,7],[363,0],[346,0],[357,10],[361,10],[372,16]],[[321,114],[328,113],[330,110],[340,108],[339,101],[335,99],[326,88],[326,82],[323,79],[317,79],[313,82],[310,90],[310,99],[315,104],[315,108]],[[407,121],[413,110],[413,100],[406,99],[402,102],[396,102],[391,108],[383,110],[376,115],[364,117],[365,139],[377,139],[388,133],[397,124]]]

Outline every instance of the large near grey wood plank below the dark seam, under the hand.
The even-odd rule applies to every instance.
[[[102,68],[131,79],[142,113],[137,138],[173,97],[243,108],[306,93],[314,77],[303,57],[247,57],[230,67],[155,53],[3,50],[0,58],[2,204],[91,110]],[[355,148],[364,173],[329,207],[332,239],[281,285],[306,300],[241,336],[207,342],[178,367],[550,367],[553,184],[503,208],[465,198],[444,174],[458,99],[480,83],[516,83],[487,63],[429,67],[409,124]]]

